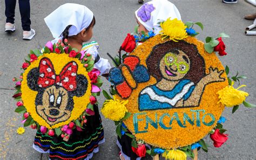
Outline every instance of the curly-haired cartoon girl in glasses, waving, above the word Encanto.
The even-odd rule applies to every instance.
[[[205,74],[205,62],[197,47],[184,40],[154,46],[146,65],[157,84],[140,92],[140,111],[199,106],[207,84],[225,81],[221,78],[224,71],[218,68],[210,67]]]

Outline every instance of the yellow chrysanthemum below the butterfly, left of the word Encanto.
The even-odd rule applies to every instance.
[[[128,100],[120,101],[116,99],[116,96],[113,95],[113,100],[106,100],[104,102],[104,107],[101,109],[102,114],[106,117],[106,119],[120,121],[125,116],[125,113],[128,112],[125,107],[127,103]]]

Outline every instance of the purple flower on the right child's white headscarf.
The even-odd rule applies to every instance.
[[[154,10],[153,4],[143,4],[139,11],[137,12],[137,16],[142,19],[143,22],[147,22],[151,18],[151,12]]]

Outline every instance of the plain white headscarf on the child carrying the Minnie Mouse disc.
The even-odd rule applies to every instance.
[[[44,18],[52,36],[58,38],[68,25],[69,36],[74,36],[86,29],[92,22],[93,13],[84,5],[66,3],[60,5],[55,11]]]

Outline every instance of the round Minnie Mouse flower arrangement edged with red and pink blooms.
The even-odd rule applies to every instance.
[[[102,80],[93,68],[91,54],[58,41],[44,49],[30,51],[22,65],[24,73],[16,81],[15,112],[23,114],[24,127],[40,129],[67,141],[72,129],[81,130],[85,115],[94,115]]]

